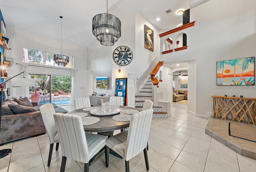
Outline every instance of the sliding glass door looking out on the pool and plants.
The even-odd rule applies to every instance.
[[[39,105],[54,103],[56,105],[69,105],[71,98],[71,77],[60,75],[36,75],[30,74],[36,83],[30,87],[29,98],[39,94]]]

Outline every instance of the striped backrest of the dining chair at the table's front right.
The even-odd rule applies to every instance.
[[[124,152],[126,161],[147,147],[152,116],[153,109],[147,109],[132,115]]]

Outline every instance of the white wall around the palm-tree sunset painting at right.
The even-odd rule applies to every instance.
[[[188,97],[188,101],[196,101],[196,115],[212,112],[212,95],[256,97],[252,94],[256,90],[250,87],[216,85],[216,61],[256,55],[255,14],[255,0],[210,0],[190,9],[190,22],[196,21],[195,25],[182,30],[187,34],[188,49],[161,55],[161,60],[170,63],[196,59],[196,96]],[[168,37],[176,38],[179,33]],[[161,38],[161,42],[165,39]]]

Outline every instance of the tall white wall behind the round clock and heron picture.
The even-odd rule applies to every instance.
[[[157,55],[157,58],[150,65],[149,69],[145,71],[144,75],[142,75],[139,80],[136,80],[137,88],[139,88],[144,79],[148,77],[150,71],[160,59],[160,38],[158,36],[158,29],[136,11],[109,10],[109,13],[120,19],[122,23],[122,35],[111,47],[101,45],[95,38],[92,45],[88,47],[87,67],[88,70],[93,71],[92,91],[96,91],[97,93],[102,91],[96,89],[95,77],[107,75],[110,83],[108,92],[110,96],[114,96],[116,78],[126,78],[128,73],[137,77],[151,59]],[[144,48],[144,24],[154,30],[154,52]],[[133,59],[129,65],[119,66],[113,60],[113,51],[120,45],[128,46],[132,50]],[[118,73],[119,67],[121,73]],[[102,92],[104,93],[104,91],[105,90]]]

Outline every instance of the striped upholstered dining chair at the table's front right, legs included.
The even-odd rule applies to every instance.
[[[150,125],[153,116],[153,109],[147,109],[131,116],[130,129],[120,132],[106,140],[107,158],[106,167],[108,167],[110,149],[114,150],[125,159],[125,170],[130,171],[129,160],[144,151],[146,169],[149,170],[147,142],[150,131]]]

